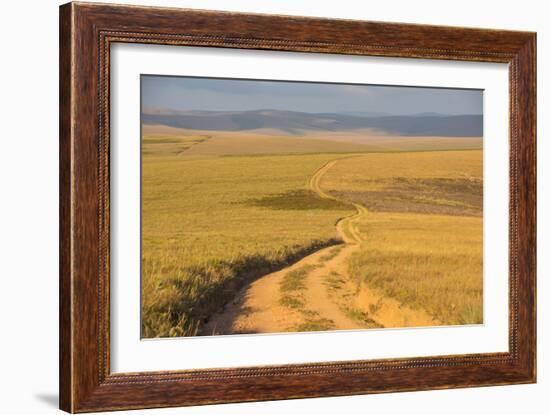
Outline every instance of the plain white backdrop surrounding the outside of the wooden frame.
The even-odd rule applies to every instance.
[[[544,69],[549,63],[546,2],[524,0],[460,2],[358,2],[246,0],[139,1],[133,3],[294,15],[356,18],[538,32],[538,315],[537,385],[322,398],[269,403],[155,410],[159,414],[498,414],[547,413],[550,399],[550,321],[547,296],[550,249],[547,160],[550,99]],[[2,7],[2,150],[0,151],[0,410],[10,414],[56,413],[57,406],[57,17],[58,1],[5,2]],[[546,25],[546,27],[545,27]],[[548,78],[548,74],[546,75]],[[7,127],[7,129],[6,129]],[[546,158],[546,160],[545,160]],[[545,201],[544,199],[548,199]],[[139,411],[138,413],[155,413]]]

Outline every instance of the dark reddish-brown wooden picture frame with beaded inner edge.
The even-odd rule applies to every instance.
[[[110,372],[113,43],[509,65],[509,352]],[[70,3],[60,9],[60,407],[68,412],[531,383],[536,379],[536,34]]]

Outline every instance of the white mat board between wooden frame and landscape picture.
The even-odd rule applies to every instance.
[[[507,65],[129,44],[113,46],[110,62],[111,370],[508,351]],[[141,73],[483,89],[484,324],[140,341]]]

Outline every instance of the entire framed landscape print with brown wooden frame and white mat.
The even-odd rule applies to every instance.
[[[60,406],[536,379],[536,36],[60,8]]]

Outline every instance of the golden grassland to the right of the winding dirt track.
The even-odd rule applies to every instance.
[[[369,209],[349,272],[444,324],[483,320],[482,152],[369,154],[322,186]]]

